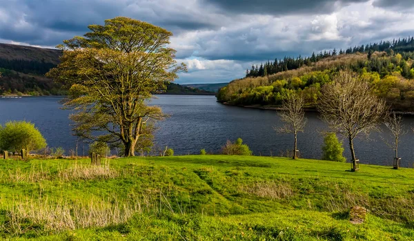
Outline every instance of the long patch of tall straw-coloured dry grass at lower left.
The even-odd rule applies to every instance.
[[[20,234],[32,227],[41,227],[43,231],[103,227],[125,223],[135,213],[142,213],[141,202],[119,204],[91,201],[89,204],[74,204],[68,200],[26,200],[13,204],[8,215],[10,222],[3,228]]]

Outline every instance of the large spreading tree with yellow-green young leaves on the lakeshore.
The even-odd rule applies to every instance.
[[[163,28],[126,17],[88,28],[58,46],[61,63],[48,76],[69,88],[63,105],[75,110],[70,119],[76,135],[121,142],[126,156],[135,155],[146,122],[164,116],[148,99],[186,66],[175,61],[168,47],[172,33]]]

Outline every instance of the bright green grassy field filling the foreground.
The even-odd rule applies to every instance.
[[[279,157],[1,160],[8,240],[414,240],[414,170]],[[348,211],[369,210],[363,224]]]

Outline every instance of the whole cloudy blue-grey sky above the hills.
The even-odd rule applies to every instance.
[[[0,42],[54,48],[117,16],[170,30],[177,83],[228,82],[252,64],[414,35],[414,0],[0,0]]]

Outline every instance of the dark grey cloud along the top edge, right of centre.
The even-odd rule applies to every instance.
[[[245,14],[318,14],[330,13],[350,3],[368,0],[203,0],[224,11]]]

